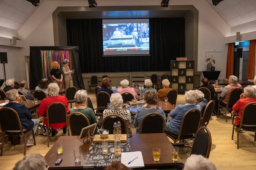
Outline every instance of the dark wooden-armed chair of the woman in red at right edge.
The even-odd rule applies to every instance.
[[[246,104],[243,108],[242,117],[239,117],[237,113],[232,112],[233,119],[233,131],[232,131],[232,140],[234,139],[234,130],[237,132],[237,149],[239,149],[239,131],[241,129],[245,131],[254,131],[254,141],[256,141],[256,102]],[[234,123],[235,117],[241,119],[240,126],[237,127]]]

